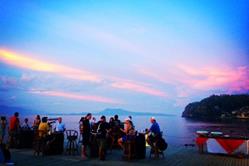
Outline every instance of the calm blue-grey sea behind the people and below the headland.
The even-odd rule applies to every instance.
[[[59,116],[48,117],[56,118]],[[66,129],[78,130],[80,115],[62,115],[61,117],[66,125]],[[95,117],[98,120],[100,116]],[[28,116],[28,118],[31,124],[34,116]],[[107,121],[109,121],[109,118],[107,116]],[[144,131],[146,128],[149,128],[151,125],[149,118],[150,116],[133,116],[132,120],[136,130]],[[120,116],[119,119],[123,121],[125,116]],[[233,133],[244,136],[249,135],[248,121],[203,122],[185,119],[180,116],[158,116],[156,119],[163,131],[164,138],[166,138],[169,144],[173,145],[193,144],[197,130],[222,131],[226,134]],[[21,120],[23,119],[21,118]]]

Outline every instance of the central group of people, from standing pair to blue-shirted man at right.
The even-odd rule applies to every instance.
[[[158,138],[162,137],[159,124],[156,122],[155,117],[150,118],[152,123],[151,127],[146,130],[146,134],[149,134],[146,141],[154,148],[155,142]],[[118,119],[118,115],[111,117],[109,122],[106,121],[106,117],[103,115],[99,121],[92,117],[91,113],[88,113],[85,117],[82,117],[79,121],[79,129],[82,135],[82,158],[86,159],[87,148],[90,147],[91,136],[97,138],[98,144],[98,156],[100,160],[105,160],[105,154],[107,151],[108,140],[111,140],[111,146],[116,142],[120,147],[124,149],[124,143],[129,140],[135,139],[136,130],[132,122],[132,117],[125,118],[124,122]]]

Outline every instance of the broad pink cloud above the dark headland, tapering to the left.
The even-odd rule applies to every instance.
[[[165,71],[139,68],[138,73],[176,87],[178,97],[193,92],[222,89],[227,92],[249,90],[248,66],[201,66],[179,64]]]

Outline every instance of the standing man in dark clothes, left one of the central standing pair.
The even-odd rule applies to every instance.
[[[90,135],[91,135],[91,125],[90,125],[90,120],[92,119],[92,114],[88,113],[86,115],[86,117],[83,120],[83,132],[82,132],[82,137],[83,137],[83,141],[82,141],[82,159],[86,159],[87,154],[86,154],[86,150],[87,150],[87,146],[89,146],[90,144]]]

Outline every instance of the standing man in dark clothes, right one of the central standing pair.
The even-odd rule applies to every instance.
[[[110,131],[110,125],[106,122],[106,117],[101,116],[98,122],[97,142],[99,145],[99,159],[105,160],[105,152],[107,147],[107,134]]]

